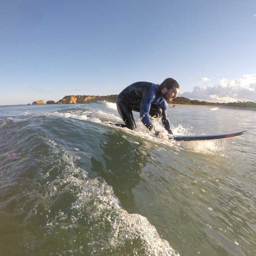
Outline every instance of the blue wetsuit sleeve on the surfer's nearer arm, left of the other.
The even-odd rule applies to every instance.
[[[154,92],[150,91],[150,89],[144,90],[143,97],[141,99],[141,106],[139,117],[141,118],[142,123],[151,131],[152,129],[155,130],[150,117],[149,117],[149,110],[153,99],[155,98]],[[155,134],[158,135],[159,131],[155,130]]]

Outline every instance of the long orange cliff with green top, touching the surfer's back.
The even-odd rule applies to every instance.
[[[90,95],[68,95],[59,100],[58,104],[69,104],[69,103],[91,103],[96,101],[108,101],[116,102],[117,94],[107,96],[90,96]]]

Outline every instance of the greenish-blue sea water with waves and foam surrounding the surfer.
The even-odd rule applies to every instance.
[[[256,112],[170,107],[175,142],[115,104],[0,106],[0,255],[256,255]],[[154,120],[164,132],[161,122]]]

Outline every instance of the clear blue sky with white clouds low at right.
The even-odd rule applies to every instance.
[[[0,105],[167,77],[178,96],[256,101],[256,1],[0,2]]]

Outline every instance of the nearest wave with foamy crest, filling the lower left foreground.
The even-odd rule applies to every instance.
[[[103,178],[90,178],[77,156],[44,135],[45,118],[0,133],[2,253],[178,255],[145,217],[121,207]]]

